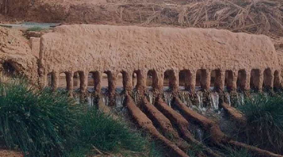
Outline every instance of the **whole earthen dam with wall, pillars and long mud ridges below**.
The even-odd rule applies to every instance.
[[[38,76],[41,88],[48,86],[50,79],[49,85],[56,90],[64,74],[64,88],[74,95],[74,80],[78,78],[80,95],[99,102],[106,94],[109,106],[121,101],[134,121],[170,147],[174,155],[187,156],[184,148],[163,135],[172,132],[176,139],[197,144],[199,141],[188,130],[189,121],[193,121],[211,134],[213,143],[245,147],[258,156],[278,156],[233,141],[215,122],[192,111],[184,102],[186,96],[180,94],[185,91],[187,97],[200,103],[205,93],[215,92],[218,97],[208,95],[212,95],[213,107],[218,108],[219,101],[228,100],[221,93],[280,89],[281,58],[265,35],[216,29],[83,24],[58,26],[53,32],[30,40],[33,51],[39,54],[38,73],[27,75]],[[104,75],[107,92],[102,91]],[[118,100],[120,93],[116,87],[120,78],[123,98]],[[198,95],[196,89],[202,94]],[[171,107],[173,104],[181,114]],[[178,133],[173,126],[178,127]],[[206,151],[217,156],[210,149]]]

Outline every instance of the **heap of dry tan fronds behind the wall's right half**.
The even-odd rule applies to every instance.
[[[119,7],[132,5],[130,2]],[[234,32],[283,35],[281,0],[196,0],[188,3],[149,3],[136,5],[152,8],[144,25],[169,24],[183,27],[218,28]]]

